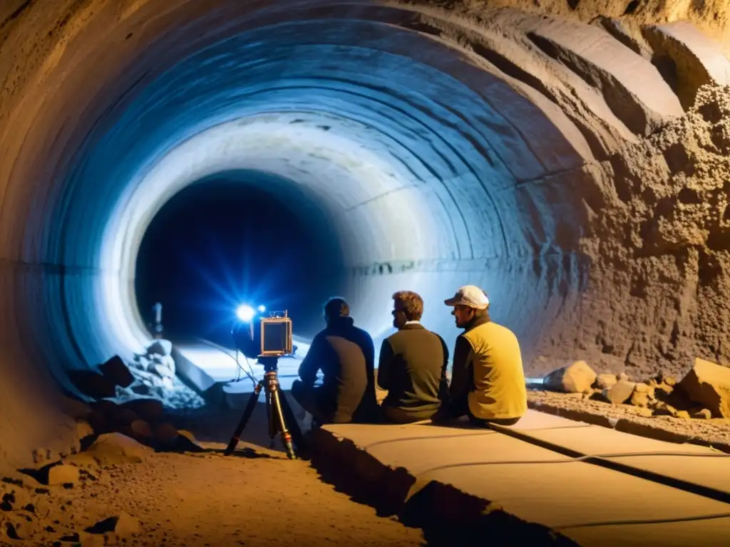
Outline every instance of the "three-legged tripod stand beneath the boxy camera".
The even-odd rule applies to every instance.
[[[296,459],[293,444],[296,444],[297,448],[301,449],[301,430],[299,429],[299,424],[296,423],[291,406],[289,406],[286,397],[281,391],[279,377],[277,375],[278,361],[278,357],[259,357],[259,362],[264,365],[264,379],[258,381],[258,384],[253,389],[253,393],[248,399],[248,403],[246,403],[241,421],[238,423],[233,437],[231,437],[231,442],[228,443],[228,448],[226,448],[226,456],[233,454],[233,451],[236,449],[241,438],[241,433],[253,414],[256,403],[258,403],[258,395],[261,394],[261,389],[264,389],[264,393],[266,394],[266,419],[269,422],[271,447],[274,448],[274,437],[276,437],[277,433],[281,433],[281,440],[286,449],[286,455],[289,459]],[[291,425],[291,432],[286,427],[287,422]]]

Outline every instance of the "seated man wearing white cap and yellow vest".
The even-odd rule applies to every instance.
[[[489,298],[474,285],[460,287],[451,314],[464,333],[456,338],[450,407],[444,419],[469,416],[472,423],[512,425],[527,411],[527,390],[517,337],[489,318]]]

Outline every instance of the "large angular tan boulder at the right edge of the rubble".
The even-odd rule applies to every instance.
[[[695,359],[677,389],[710,410],[715,418],[730,418],[730,368]]]

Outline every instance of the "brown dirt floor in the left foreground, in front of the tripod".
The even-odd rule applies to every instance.
[[[238,457],[224,456],[222,444],[204,447],[210,451],[150,451],[140,463],[88,468],[69,489],[24,475],[16,476],[23,486],[6,478],[0,484],[0,496],[9,502],[0,511],[0,545],[423,544],[420,530],[381,519],[335,492],[307,462],[250,445],[239,446]],[[18,507],[31,509],[27,503],[32,510]],[[123,516],[118,533],[104,534],[101,527],[86,532],[116,516]]]

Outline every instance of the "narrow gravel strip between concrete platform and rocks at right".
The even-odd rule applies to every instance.
[[[564,415],[571,419],[585,419],[593,416],[596,419],[609,418],[607,425],[616,423],[616,420],[630,422],[624,428],[628,432],[643,434],[655,438],[662,438],[662,433],[669,434],[667,441],[680,441],[680,437],[687,438],[685,442],[700,443],[715,446],[730,452],[730,419],[683,419],[673,416],[646,416],[646,408],[637,408],[631,405],[612,405],[602,401],[583,398],[580,393],[556,393],[541,390],[529,390],[528,403],[530,408],[545,411],[550,414]],[[565,411],[576,414],[570,416]],[[583,416],[581,416],[583,415]],[[601,420],[599,420],[599,423]],[[632,430],[631,425],[639,428]],[[677,437],[673,439],[672,437]]]

